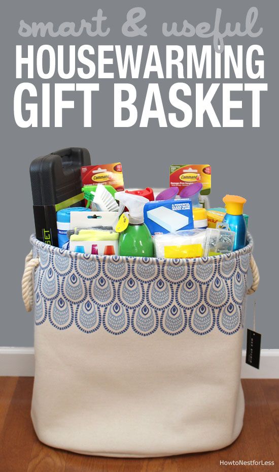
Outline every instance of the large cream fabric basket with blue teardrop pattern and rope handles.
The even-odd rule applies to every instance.
[[[37,267],[31,417],[43,443],[144,457],[233,442],[244,412],[251,236],[234,253],[192,260],[87,256],[30,241],[23,295],[30,309]]]

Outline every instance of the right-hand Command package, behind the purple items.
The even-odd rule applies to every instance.
[[[169,186],[181,190],[191,183],[202,183],[201,195],[211,192],[211,166],[209,164],[172,164],[169,168]]]

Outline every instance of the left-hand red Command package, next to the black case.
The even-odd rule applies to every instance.
[[[112,185],[117,192],[124,190],[122,166],[120,162],[83,166],[81,168],[82,185]]]

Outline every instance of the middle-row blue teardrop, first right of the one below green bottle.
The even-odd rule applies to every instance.
[[[167,308],[173,302],[173,288],[164,279],[158,278],[148,285],[146,298],[152,308]]]

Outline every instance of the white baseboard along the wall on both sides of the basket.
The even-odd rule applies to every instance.
[[[279,379],[279,349],[262,349],[260,369],[245,363],[242,351],[242,379]],[[0,375],[33,376],[34,348],[0,348]]]

